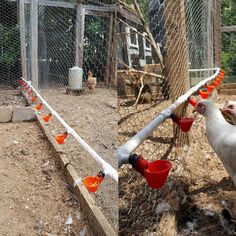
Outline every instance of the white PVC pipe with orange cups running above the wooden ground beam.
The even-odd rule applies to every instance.
[[[58,119],[58,121],[65,127],[68,134],[71,134],[80,144],[81,146],[98,162],[98,164],[102,167],[105,175],[109,175],[116,182],[118,182],[118,172],[115,170],[110,164],[100,157],[95,150],[93,150],[77,133],[71,128],[61,117],[60,115],[45,101],[45,99],[38,93],[38,91],[31,85],[29,81],[26,81],[24,78],[21,78],[24,82],[26,82],[31,89],[34,91],[36,96],[41,100],[42,104],[47,107],[47,109],[51,112],[51,114]]]

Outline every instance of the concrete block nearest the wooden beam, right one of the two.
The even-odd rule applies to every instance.
[[[14,107],[13,122],[35,120],[35,113],[31,107]]]

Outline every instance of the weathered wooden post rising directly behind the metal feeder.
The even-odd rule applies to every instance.
[[[83,68],[83,52],[84,52],[84,21],[85,13],[83,9],[83,0],[77,0],[77,16],[76,16],[76,59],[75,65]]]

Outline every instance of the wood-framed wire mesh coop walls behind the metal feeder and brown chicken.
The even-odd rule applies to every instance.
[[[4,0],[0,4],[1,83],[14,84],[22,73],[36,88],[65,88],[69,69],[78,66],[84,81],[91,71],[98,83],[114,86],[112,1]],[[6,32],[6,27],[11,30]]]

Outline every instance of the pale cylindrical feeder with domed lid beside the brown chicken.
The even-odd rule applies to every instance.
[[[74,90],[82,89],[83,69],[74,66],[69,69],[69,88]]]

